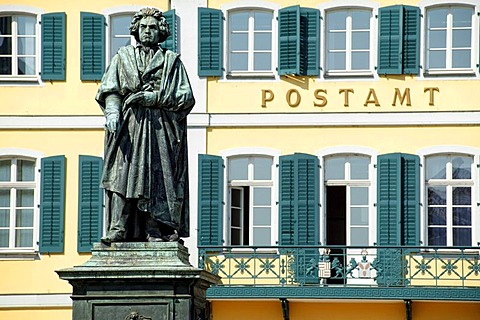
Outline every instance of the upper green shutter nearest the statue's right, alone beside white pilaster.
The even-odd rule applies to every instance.
[[[223,14],[221,10],[198,8],[198,75],[223,75]]]

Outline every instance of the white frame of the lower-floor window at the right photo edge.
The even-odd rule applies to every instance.
[[[468,147],[468,146],[434,146],[417,151],[417,154],[420,156],[421,168],[420,170],[420,199],[421,199],[421,214],[420,214],[420,239],[422,243],[428,245],[428,194],[427,183],[426,183],[426,158],[429,156],[447,156],[447,155],[459,155],[459,156],[468,156],[473,158],[472,163],[472,246],[476,246],[478,241],[480,241],[480,227],[478,224],[480,220],[478,214],[480,212],[479,207],[479,166],[480,166],[480,148]],[[442,180],[447,181],[447,180]],[[459,182],[462,180],[457,180]],[[447,208],[448,210],[448,208]],[[448,228],[451,229],[451,226],[448,226],[448,216],[447,216],[447,246],[450,246],[453,242],[448,238]],[[452,232],[452,230],[450,230]],[[450,242],[449,242],[450,241]]]

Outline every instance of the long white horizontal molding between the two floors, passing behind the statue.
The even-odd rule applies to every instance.
[[[0,116],[5,129],[103,129],[103,116]],[[193,113],[189,127],[369,127],[479,125],[480,111],[375,113]]]

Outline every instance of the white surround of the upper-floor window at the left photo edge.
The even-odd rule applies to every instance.
[[[41,14],[44,13],[43,10],[30,7],[30,6],[19,6],[19,5],[0,5],[0,16],[32,16],[35,18],[35,73],[33,75],[15,75],[18,72],[17,68],[17,58],[15,52],[17,51],[17,40],[18,38],[12,34],[12,74],[11,75],[0,75],[0,84],[11,84],[17,82],[36,82],[40,83],[40,71],[42,69],[41,63],[41,52],[42,52],[42,34],[40,26]],[[12,28],[13,29],[13,28]],[[12,33],[16,32],[12,30]]]

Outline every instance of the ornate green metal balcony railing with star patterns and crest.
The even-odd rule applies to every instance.
[[[199,267],[223,287],[480,287],[479,247],[202,246]]]

